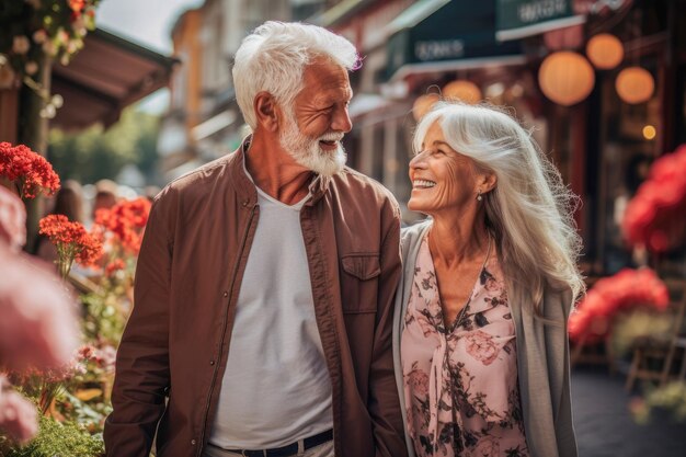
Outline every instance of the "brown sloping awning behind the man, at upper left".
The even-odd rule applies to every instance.
[[[168,85],[176,62],[98,28],[68,66],[53,67],[52,92],[65,103],[50,125],[68,130],[110,126],[124,107]]]

